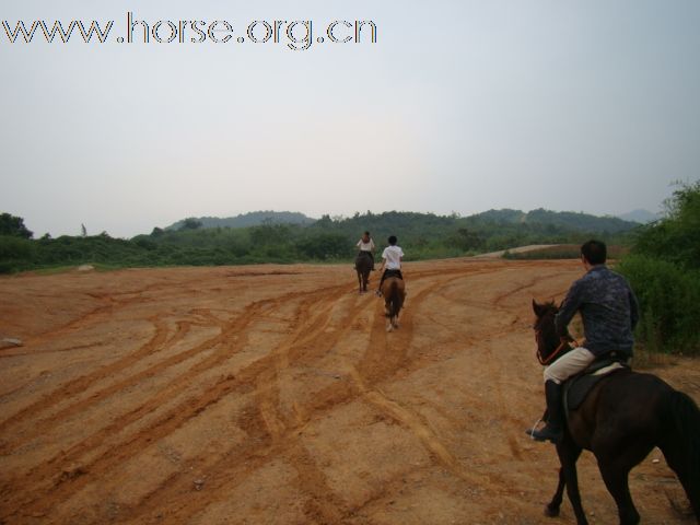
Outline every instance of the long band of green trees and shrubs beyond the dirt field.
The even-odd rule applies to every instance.
[[[208,228],[203,225],[203,219],[189,218],[177,223],[177,230],[155,228],[150,234],[131,240],[112,238],[104,232],[56,240],[45,236],[30,243],[31,253],[10,246],[7,252],[14,255],[0,260],[3,271],[81,264],[149,267],[350,261],[355,255],[355,243],[365,230],[372,232],[377,258],[387,237],[395,234],[407,254],[406,260],[421,260],[475,255],[525,244],[581,244],[594,235],[603,235],[605,241],[629,235],[606,235],[552,224],[552,218],[558,217],[553,212],[551,217],[546,213],[539,222],[511,220],[512,217],[500,220],[501,212],[491,212],[485,220],[479,215],[460,218],[457,214],[389,211],[355,213],[350,218],[323,215],[312,223],[291,222],[300,218],[288,212],[266,220],[262,217],[266,213],[271,212],[241,215],[257,221],[248,228]],[[505,215],[513,213],[522,214],[511,210]],[[290,222],[279,222],[282,220]],[[595,218],[592,221],[595,222]]]

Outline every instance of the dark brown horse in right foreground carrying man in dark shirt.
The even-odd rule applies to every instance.
[[[558,307],[537,304],[535,332],[540,361],[560,351],[555,329]],[[570,348],[564,348],[565,353]],[[559,515],[564,487],[579,525],[587,524],[581,506],[576,460],[593,452],[605,485],[617,503],[620,524],[637,524],[640,516],[628,486],[629,471],[658,446],[676,472],[700,523],[700,410],[686,394],[652,374],[619,371],[598,382],[585,401],[568,413],[564,438],[557,445],[559,486],[545,509]]]

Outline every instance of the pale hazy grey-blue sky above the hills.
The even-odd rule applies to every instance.
[[[11,32],[114,21],[104,44],[0,27],[0,211],[35,236],[256,210],[656,212],[700,177],[697,0],[9,3]],[[148,44],[138,24],[117,40],[128,12]],[[332,43],[335,21],[376,42]]]

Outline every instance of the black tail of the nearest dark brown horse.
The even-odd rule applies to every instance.
[[[666,400],[666,417],[672,435],[663,452],[700,520],[700,409],[688,395],[673,390]]]

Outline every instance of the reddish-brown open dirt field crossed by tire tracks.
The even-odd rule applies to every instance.
[[[553,447],[530,299],[578,261],[407,266],[398,331],[349,265],[0,279],[0,523],[537,524]],[[378,276],[373,275],[373,279]],[[700,362],[653,371],[700,399]],[[592,523],[617,523],[591,454]],[[654,451],[645,524],[695,523]]]

